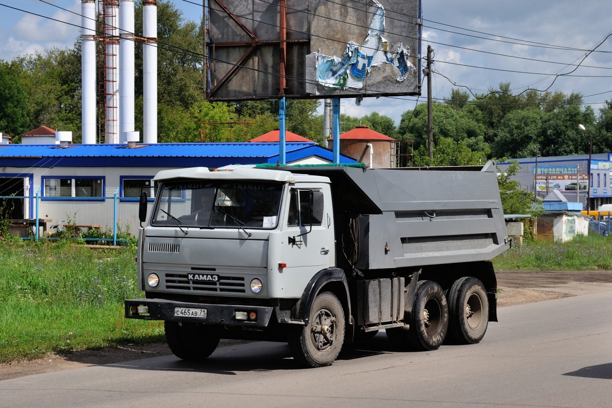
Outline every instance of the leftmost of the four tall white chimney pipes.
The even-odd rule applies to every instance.
[[[95,143],[95,0],[81,0],[81,133]]]

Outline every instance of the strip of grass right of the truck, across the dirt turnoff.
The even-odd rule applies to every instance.
[[[501,270],[612,269],[612,238],[578,236],[569,242],[535,240],[493,259]]]

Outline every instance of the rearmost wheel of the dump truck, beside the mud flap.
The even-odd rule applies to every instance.
[[[489,301],[482,282],[471,276],[459,278],[449,292],[449,335],[460,344],[476,344],[485,336]]]

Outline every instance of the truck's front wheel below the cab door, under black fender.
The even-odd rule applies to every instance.
[[[331,292],[318,294],[305,326],[289,332],[289,348],[293,358],[308,368],[334,363],[345,338],[345,316],[340,300]]]

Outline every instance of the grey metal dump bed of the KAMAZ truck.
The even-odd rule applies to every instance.
[[[335,213],[360,214],[359,269],[490,261],[507,249],[491,161],[430,169],[283,169],[329,177]]]

